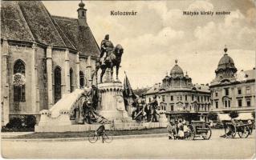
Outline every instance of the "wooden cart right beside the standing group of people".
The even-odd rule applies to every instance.
[[[186,139],[193,140],[196,137],[201,137],[208,140],[211,138],[212,130],[209,126],[209,122],[192,121],[188,128],[189,131],[185,135]]]

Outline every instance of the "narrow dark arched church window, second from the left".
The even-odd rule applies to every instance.
[[[55,68],[55,103],[61,98],[61,69],[59,66]]]

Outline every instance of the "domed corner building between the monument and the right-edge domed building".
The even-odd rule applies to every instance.
[[[187,120],[207,120],[210,110],[210,90],[208,85],[193,84],[175,60],[170,73],[165,76],[162,83],[156,83],[145,94],[146,102],[151,102],[157,95],[161,110],[166,113],[169,120],[186,118]]]

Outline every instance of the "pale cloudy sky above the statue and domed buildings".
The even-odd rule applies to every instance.
[[[193,83],[206,84],[224,54],[240,70],[255,66],[256,9],[252,0],[85,1],[87,23],[100,44],[105,34],[124,47],[124,70],[133,89],[161,82],[177,64]],[[43,1],[52,15],[77,18],[79,1]],[[136,11],[113,16],[111,11]],[[183,11],[228,11],[227,15],[183,15]]]

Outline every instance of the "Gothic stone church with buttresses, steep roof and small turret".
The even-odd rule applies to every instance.
[[[91,85],[100,48],[79,3],[78,18],[49,14],[39,1],[1,2],[2,125],[50,109]]]

